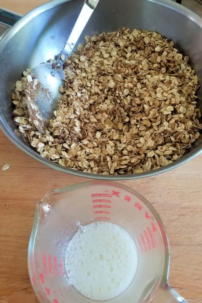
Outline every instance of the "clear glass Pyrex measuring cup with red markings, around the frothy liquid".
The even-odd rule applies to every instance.
[[[65,248],[80,225],[111,221],[138,248],[133,282],[115,303],[187,303],[168,282],[169,243],[161,218],[136,191],[114,182],[90,181],[56,189],[37,205],[28,248],[28,270],[41,303],[96,302],[68,284]]]

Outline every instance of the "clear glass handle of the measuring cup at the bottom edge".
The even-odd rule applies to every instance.
[[[152,303],[188,303],[169,284],[160,286],[150,301]]]

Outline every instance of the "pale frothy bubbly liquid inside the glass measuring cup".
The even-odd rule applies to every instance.
[[[85,297],[105,301],[121,295],[137,271],[137,246],[121,226],[97,221],[82,226],[65,258],[69,283]]]

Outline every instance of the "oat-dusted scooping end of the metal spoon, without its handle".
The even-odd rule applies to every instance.
[[[44,134],[48,120],[53,118],[54,111],[58,108],[61,96],[58,88],[63,84],[64,78],[60,60],[37,65],[27,77],[25,95],[28,111],[36,128]]]

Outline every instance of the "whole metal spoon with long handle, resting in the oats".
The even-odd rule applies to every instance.
[[[92,15],[99,0],[86,0],[72,32],[57,60],[41,63],[33,68],[27,77],[25,95],[29,115],[36,128],[46,133],[48,120],[53,118],[58,108],[60,92],[58,88],[63,85],[65,75],[62,64],[71,55],[85,25]]]

